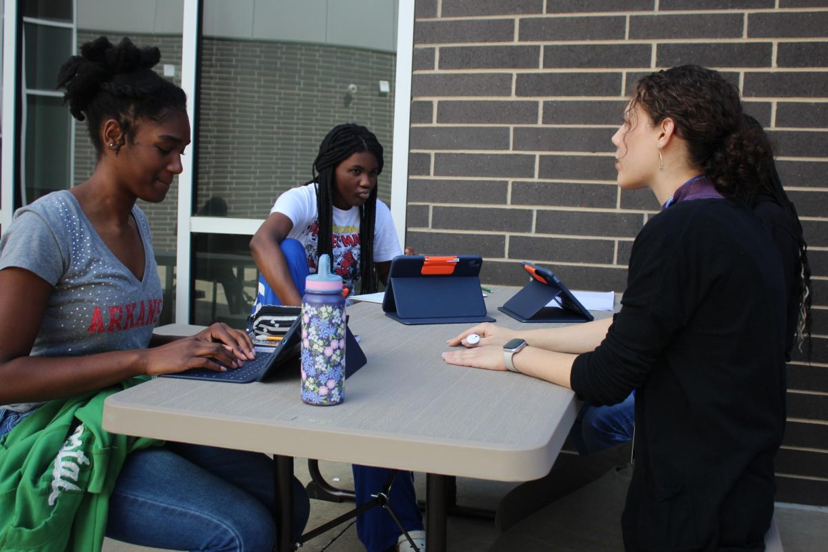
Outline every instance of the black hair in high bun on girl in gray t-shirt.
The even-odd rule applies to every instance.
[[[113,46],[99,36],[60,67],[56,88],[66,90],[63,100],[72,116],[86,120],[98,156],[103,151],[99,130],[107,119],[118,121],[132,143],[139,119],[161,122],[172,109],[186,111],[184,90],[152,70],[159,60],[156,47],[138,48],[126,37]]]

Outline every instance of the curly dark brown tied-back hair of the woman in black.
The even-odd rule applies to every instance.
[[[750,203],[773,151],[746,125],[739,89],[715,70],[681,65],[638,80],[632,105],[652,119],[671,118],[687,144],[688,161],[710,175],[725,197]]]

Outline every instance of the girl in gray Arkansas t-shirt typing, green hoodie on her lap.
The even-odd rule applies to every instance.
[[[124,38],[81,46],[58,86],[86,120],[94,173],[18,209],[0,241],[0,548],[100,550],[107,535],[170,550],[272,550],[272,461],[101,428],[103,398],[136,380],[253,358],[213,324],[152,334],[161,281],[137,199],[160,202],[190,144],[161,53]],[[9,338],[8,336],[13,336]],[[309,501],[294,481],[296,526]]]

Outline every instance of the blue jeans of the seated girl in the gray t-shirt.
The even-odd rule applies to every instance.
[[[12,418],[0,410],[0,435]],[[293,492],[299,535],[310,501],[296,479]],[[171,550],[272,550],[274,503],[272,460],[264,454],[168,443],[127,457],[109,498],[106,535]]]

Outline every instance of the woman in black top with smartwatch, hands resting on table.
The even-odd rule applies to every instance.
[[[762,550],[770,526],[785,293],[761,221],[724,199],[763,170],[746,131],[738,90],[715,71],[686,65],[639,80],[613,137],[615,166],[619,186],[650,188],[663,209],[633,244],[619,314],[556,330],[482,324],[443,354],[492,370],[511,361],[596,405],[637,390],[627,550]],[[528,346],[507,359],[511,338]]]

